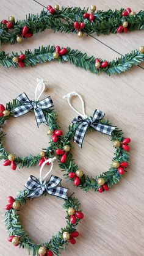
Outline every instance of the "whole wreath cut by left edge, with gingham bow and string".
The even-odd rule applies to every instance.
[[[42,90],[41,86],[43,86]],[[43,79],[38,79],[35,92],[37,89],[41,90],[40,95],[45,90]],[[57,115],[56,112],[54,112],[54,109],[51,109],[52,106],[53,102],[50,96],[41,101],[30,101],[25,93],[22,93],[18,98],[13,99],[12,102],[7,103],[6,106],[0,104],[0,160],[4,159],[4,166],[11,166],[12,170],[15,170],[17,166],[19,166],[19,168],[23,168],[24,166],[41,166],[46,159],[51,157],[51,152],[46,150],[41,150],[36,156],[29,155],[26,157],[19,157],[15,156],[14,153],[6,152],[3,144],[6,134],[2,131],[2,127],[11,117],[19,117],[22,114],[33,111],[37,125],[45,123],[49,126],[49,129],[54,130],[54,136],[59,139],[59,136],[62,135],[62,133],[56,123]]]

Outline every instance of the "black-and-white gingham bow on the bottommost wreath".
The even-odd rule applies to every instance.
[[[61,178],[52,175],[49,181],[40,181],[34,176],[30,176],[25,184],[25,187],[30,191],[27,197],[40,197],[44,191],[52,196],[62,197],[63,199],[68,199],[67,188],[58,186]]]

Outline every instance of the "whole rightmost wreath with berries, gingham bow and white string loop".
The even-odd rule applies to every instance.
[[[68,93],[69,104],[70,97],[73,95],[81,98],[76,92]],[[82,101],[82,104],[84,109],[84,101]],[[73,108],[73,106],[71,107]],[[76,111],[76,109],[74,110]],[[60,169],[64,172],[65,178],[73,181],[75,186],[82,188],[85,192],[88,192],[90,189],[99,192],[108,191],[114,184],[120,181],[122,175],[126,172],[126,167],[129,166],[128,144],[131,142],[131,139],[125,138],[123,132],[117,126],[112,126],[108,120],[104,119],[104,112],[102,111],[96,110],[93,117],[85,115],[85,111],[84,114],[77,113],[79,116],[73,119],[73,124],[69,126],[66,136],[62,137],[58,144],[51,142],[51,147],[47,148],[47,150],[56,150]],[[113,147],[115,147],[115,156],[113,156],[113,163],[109,170],[93,178],[85,175],[83,170],[79,169],[77,164],[74,163],[71,153],[73,148],[71,140],[74,139],[74,142],[78,143],[81,147],[86,131],[95,130],[111,136]]]

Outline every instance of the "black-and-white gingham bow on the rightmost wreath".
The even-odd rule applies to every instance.
[[[114,126],[103,125],[99,123],[99,120],[103,119],[104,115],[105,114],[103,111],[99,111],[98,109],[96,109],[93,117],[83,119],[81,115],[79,115],[72,120],[72,123],[79,124],[74,134],[74,142],[76,142],[79,147],[82,147],[82,142],[84,141],[84,136],[89,125],[92,126],[96,131],[100,131],[100,133],[104,133],[107,135],[111,135],[112,131],[115,130]]]

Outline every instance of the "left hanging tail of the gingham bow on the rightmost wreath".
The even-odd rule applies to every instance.
[[[87,128],[87,122],[80,123],[80,125],[76,128],[73,141],[76,142],[79,145],[79,147],[82,147],[82,143],[84,141],[84,136],[87,131]]]

